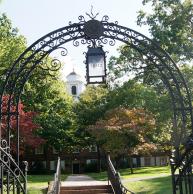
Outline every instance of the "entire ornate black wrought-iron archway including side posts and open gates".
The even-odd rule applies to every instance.
[[[95,16],[96,17],[96,16]],[[51,66],[47,67],[44,63],[46,58],[49,57],[50,53],[54,50],[60,49],[61,55],[67,55],[67,49],[64,45],[70,41],[73,42],[74,46],[79,46],[80,44],[87,44],[88,46],[102,46],[104,44],[109,44],[111,46],[115,45],[115,40],[121,41],[131,48],[138,51],[143,60],[146,62],[146,66],[156,69],[156,72],[161,76],[162,81],[166,85],[172,101],[173,108],[173,118],[174,127],[179,128],[179,133],[183,139],[187,137],[187,133],[192,133],[192,105],[191,97],[186,85],[186,82],[178,69],[175,62],[170,58],[170,56],[154,41],[147,38],[146,36],[136,32],[130,28],[118,25],[117,22],[109,22],[108,16],[103,16],[101,21],[95,20],[95,17],[90,16],[90,20],[86,21],[83,16],[79,16],[78,23],[69,23],[68,26],[57,29],[28,47],[15,61],[12,67],[7,71],[4,76],[3,85],[1,86],[0,92],[0,104],[2,105],[2,98],[4,95],[9,96],[9,101],[7,104],[7,112],[2,114],[0,110],[1,121],[2,117],[6,116],[6,129],[7,138],[3,139],[0,136],[0,185],[1,193],[4,193],[5,185],[7,188],[7,193],[9,193],[9,188],[13,187],[16,191],[15,193],[26,193],[26,178],[22,173],[20,158],[19,158],[19,111],[18,104],[20,96],[22,94],[23,88],[30,75],[36,68],[41,69],[44,72],[52,74],[53,71],[60,68],[60,61],[53,59]],[[11,106],[15,105],[17,107],[16,111],[11,112]],[[15,115],[17,118],[17,158],[14,160],[10,154],[10,120],[11,116]],[[190,123],[191,129],[189,131],[187,127],[187,122]],[[177,126],[177,123],[181,123]],[[1,131],[1,130],[0,130]],[[191,136],[190,136],[191,137]],[[192,138],[188,141],[188,147],[185,148],[184,155],[180,158],[175,158],[172,164],[172,175],[175,175],[179,168],[182,168],[183,176],[184,172],[187,173],[187,169],[190,169],[190,165],[187,168],[187,164],[190,164],[189,154],[192,150]],[[186,163],[182,163],[185,161]],[[188,161],[188,162],[187,162]],[[14,166],[14,168],[13,168]],[[14,170],[12,170],[14,169]],[[19,173],[18,173],[19,172]],[[189,176],[188,172],[188,176]],[[7,177],[6,184],[4,177]],[[10,178],[13,177],[13,181]],[[176,193],[179,182],[181,181],[181,173],[176,178],[173,179],[173,190]],[[182,193],[182,192],[181,192]],[[192,193],[192,190],[189,192]]]

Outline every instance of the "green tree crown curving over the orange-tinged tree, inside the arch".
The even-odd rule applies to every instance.
[[[106,101],[107,110],[123,107],[129,109],[142,108],[151,112],[156,121],[152,141],[159,141],[158,137],[162,137],[161,134],[168,135],[169,131],[166,126],[171,122],[172,110],[168,109],[171,106],[171,99],[166,91],[160,95],[154,87],[130,80],[110,91]],[[168,132],[165,131],[166,128]],[[167,138],[167,142],[168,140]]]

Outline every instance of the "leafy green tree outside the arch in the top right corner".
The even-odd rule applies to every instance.
[[[148,26],[150,35],[176,62],[193,57],[192,0],[143,0],[151,3],[152,13],[139,11],[137,24]]]

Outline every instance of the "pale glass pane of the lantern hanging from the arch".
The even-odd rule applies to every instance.
[[[105,75],[103,55],[89,56],[88,63],[89,63],[89,76]]]

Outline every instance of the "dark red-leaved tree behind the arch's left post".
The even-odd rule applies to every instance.
[[[2,135],[6,138],[7,132],[7,112],[8,112],[8,100],[9,96],[3,96],[2,101]],[[36,148],[44,142],[43,139],[36,135],[38,125],[35,124],[34,118],[37,115],[35,112],[25,112],[24,105],[20,102],[19,105],[19,128],[20,128],[20,154],[23,154],[26,146]],[[10,112],[16,113],[16,106],[11,105]],[[11,130],[11,147],[14,153],[16,153],[17,137],[17,119],[16,116],[10,118],[10,130]]]

